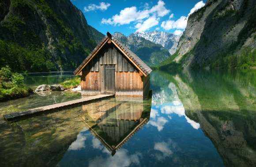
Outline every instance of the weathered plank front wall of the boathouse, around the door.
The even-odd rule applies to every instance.
[[[83,69],[81,77],[82,95],[97,95],[102,88],[102,65],[115,65],[115,91],[117,96],[143,96],[149,85],[147,77],[139,75],[138,70],[112,44],[106,45]],[[146,84],[143,81],[146,81]],[[104,81],[103,81],[104,82]]]

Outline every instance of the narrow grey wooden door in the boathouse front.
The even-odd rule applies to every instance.
[[[115,65],[103,65],[102,93],[115,94]]]

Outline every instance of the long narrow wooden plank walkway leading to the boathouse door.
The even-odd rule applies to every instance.
[[[109,97],[114,97],[114,94],[99,94],[99,95],[96,95],[96,96],[90,96],[90,97],[87,97],[87,98],[80,98],[80,99],[72,100],[72,101],[68,101],[68,102],[37,107],[37,108],[34,108],[34,109],[29,109],[28,111],[23,111],[23,112],[18,112],[18,113],[10,113],[10,114],[4,115],[4,119],[5,120],[15,120],[15,119],[21,118],[23,116],[32,116],[34,114],[47,112],[47,111],[51,111],[51,110],[54,110],[54,109],[61,109],[61,108],[68,107],[68,106],[71,106],[71,105],[77,105],[77,104],[80,104],[80,103],[83,103],[83,102],[92,102],[92,101],[100,100],[100,99],[103,99],[103,98],[109,98]]]

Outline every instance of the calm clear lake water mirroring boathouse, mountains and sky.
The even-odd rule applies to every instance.
[[[62,76],[31,75],[26,83]],[[0,166],[256,166],[255,78],[256,71],[154,71],[148,100],[111,98],[0,120]],[[68,91],[34,94],[0,103],[0,116],[76,98]]]

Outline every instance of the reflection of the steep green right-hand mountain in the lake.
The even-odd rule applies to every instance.
[[[255,72],[183,72],[173,76],[186,116],[214,143],[226,166],[256,166]]]

